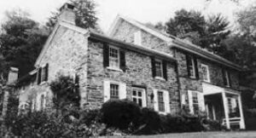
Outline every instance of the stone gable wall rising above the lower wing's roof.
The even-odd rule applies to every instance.
[[[144,32],[142,29],[131,25],[131,23],[127,21],[122,21],[111,37],[117,38],[126,43],[134,43],[134,33],[138,31],[142,32],[142,46],[172,55],[172,49],[167,46],[167,43],[164,40],[160,39],[159,37],[155,37],[148,32]]]

